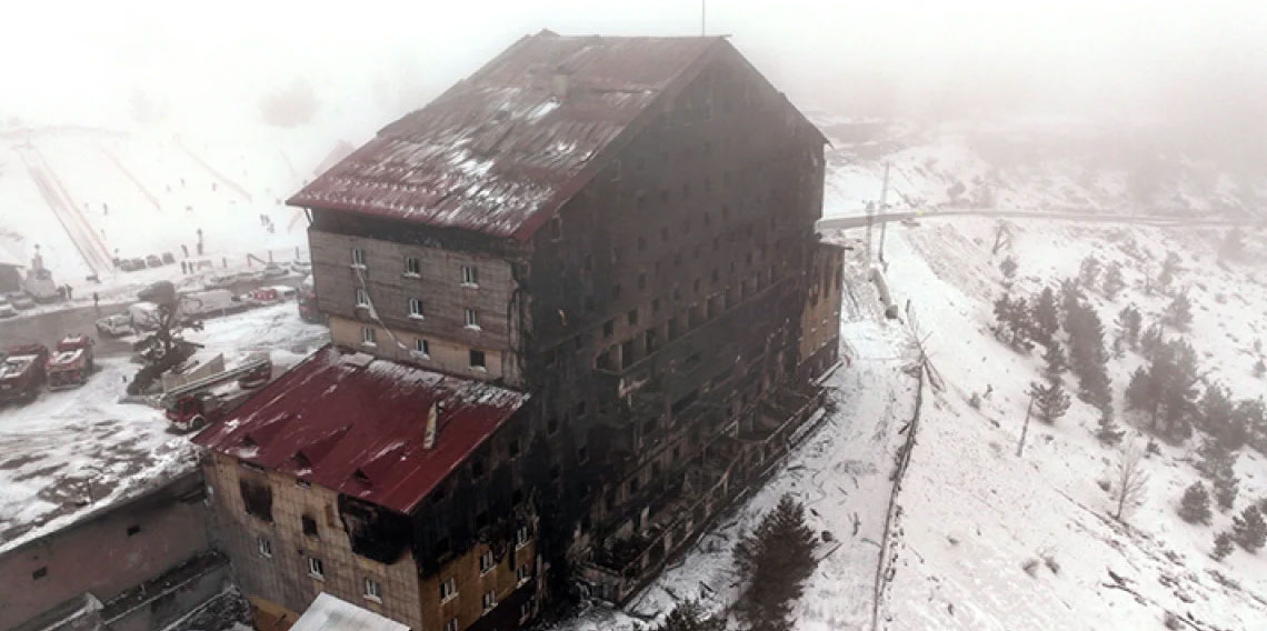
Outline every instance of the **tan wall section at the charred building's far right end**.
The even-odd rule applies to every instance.
[[[798,366],[818,364],[825,355],[835,361],[835,354],[821,354],[825,347],[840,340],[840,299],[844,288],[844,260],[839,247],[820,243],[810,265],[810,286],[806,289],[805,313],[801,319]],[[827,366],[810,366],[808,374],[817,374]]]

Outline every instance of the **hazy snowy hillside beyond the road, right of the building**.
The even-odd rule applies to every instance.
[[[1114,214],[1257,213],[1267,180],[1158,156],[1129,132],[1079,122],[920,125],[811,114],[831,144],[824,214],[996,208]],[[1139,136],[1147,137],[1147,133]]]

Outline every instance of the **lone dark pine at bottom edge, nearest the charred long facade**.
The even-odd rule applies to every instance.
[[[791,628],[793,601],[813,573],[815,533],[805,523],[805,506],[792,495],[761,517],[756,528],[740,537],[735,565],[749,579],[740,609],[754,630]]]

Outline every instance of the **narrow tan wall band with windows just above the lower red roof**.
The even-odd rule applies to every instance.
[[[366,346],[362,343],[362,329],[366,327],[375,331],[375,340],[378,340],[378,342],[374,346]],[[399,340],[405,348],[393,343],[392,336],[395,336],[395,338]],[[338,316],[331,316],[329,337],[340,346],[356,348],[393,361],[416,364],[430,370],[438,370],[441,373],[462,375],[473,379],[504,379],[507,374],[513,374],[516,370],[514,361],[511,360],[513,355],[506,354],[500,350],[452,342],[450,340],[418,335],[414,331],[399,328],[392,329],[392,335],[388,335],[388,331],[378,326],[375,322],[353,321],[341,318]],[[430,355],[422,355],[414,350],[414,340],[419,337],[427,340],[428,350],[431,351]],[[484,351],[484,369],[473,367],[470,365],[471,348]]]

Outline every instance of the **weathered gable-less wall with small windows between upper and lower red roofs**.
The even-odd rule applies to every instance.
[[[323,313],[331,317],[331,332],[340,343],[361,348],[386,359],[408,361],[478,379],[503,379],[519,381],[517,362],[509,361],[518,345],[518,307],[516,283],[511,264],[504,258],[476,251],[459,251],[440,245],[398,243],[383,238],[352,236],[323,231],[317,227],[308,232],[313,261],[313,280],[317,299]],[[352,248],[365,252],[364,270],[352,266]],[[417,275],[407,274],[405,258],[418,258]],[[478,270],[478,284],[462,283],[462,266]],[[356,289],[369,290],[378,318],[370,309],[356,307]],[[423,316],[409,316],[409,299],[422,300]],[[479,314],[479,328],[465,322],[465,309]],[[357,327],[348,336],[350,327],[336,331],[333,321],[390,328],[398,333],[400,343],[409,350],[393,348],[386,336],[378,338],[376,347],[364,347]],[[431,359],[412,352],[417,338],[428,341]],[[489,370],[471,371],[469,351],[485,352]],[[495,355],[495,361],[493,355]]]

